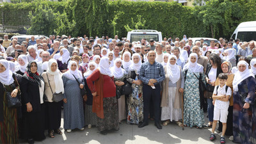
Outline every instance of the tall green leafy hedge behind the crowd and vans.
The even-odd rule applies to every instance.
[[[229,38],[239,23],[256,20],[255,5],[256,0],[211,0],[196,7],[175,2],[37,0],[4,3],[0,12],[31,11],[24,14],[24,19],[31,19],[29,34],[113,37],[126,36],[131,29],[156,29],[163,36]]]

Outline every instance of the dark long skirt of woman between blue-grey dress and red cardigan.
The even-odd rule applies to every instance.
[[[84,125],[89,124],[97,126],[97,115],[92,112],[92,105],[85,104]]]

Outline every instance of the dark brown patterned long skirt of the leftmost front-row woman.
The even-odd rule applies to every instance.
[[[8,108],[7,100],[3,96],[3,122],[0,122],[0,143],[19,143],[17,109]]]

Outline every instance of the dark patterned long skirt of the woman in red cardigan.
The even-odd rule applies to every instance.
[[[118,107],[116,97],[103,98],[104,118],[97,117],[99,131],[119,129]]]

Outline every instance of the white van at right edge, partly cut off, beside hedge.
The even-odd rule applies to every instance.
[[[234,40],[239,38],[242,42],[256,40],[256,21],[242,22],[231,36]]]

